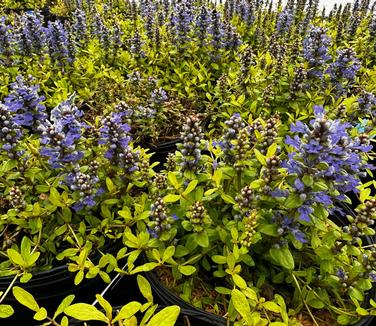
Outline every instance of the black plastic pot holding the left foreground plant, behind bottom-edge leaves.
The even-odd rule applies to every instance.
[[[103,251],[113,253],[119,249],[120,243],[107,245]],[[93,261],[98,262],[100,256],[94,256]],[[49,314],[53,314],[61,301],[69,294],[75,295],[74,302],[91,303],[95,299],[95,294],[100,293],[106,283],[99,277],[84,279],[79,285],[74,285],[76,273],[68,271],[66,265],[54,267],[50,270],[36,272],[27,283],[15,282],[15,286],[22,287],[30,292],[40,307],[45,307]],[[14,276],[0,278],[0,291],[5,291],[11,284]],[[15,313],[10,318],[0,320],[1,325],[27,325],[33,320],[34,312],[19,304],[13,297],[12,291],[8,293],[2,302],[10,304]]]

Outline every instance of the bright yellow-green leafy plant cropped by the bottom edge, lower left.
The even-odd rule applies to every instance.
[[[68,295],[57,307],[53,315],[44,307],[40,307],[33,294],[19,286],[12,288],[15,299],[34,313],[34,320],[30,322],[44,322],[45,325],[65,326],[82,325],[82,322],[91,322],[96,325],[140,325],[140,326],[173,326],[179,317],[178,306],[163,307],[160,309],[154,304],[150,283],[141,275],[137,275],[137,284],[140,293],[146,299],[145,303],[129,302],[120,307],[112,305],[102,296],[97,294],[96,303],[73,303],[75,296]],[[99,306],[98,308],[95,306]],[[12,315],[13,308],[9,305],[0,305],[1,312]],[[159,309],[158,309],[159,308]],[[159,311],[158,311],[158,310]],[[3,317],[3,316],[2,316]],[[85,323],[86,324],[86,323]]]

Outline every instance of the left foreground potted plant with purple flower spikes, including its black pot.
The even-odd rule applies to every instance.
[[[90,127],[74,98],[47,112],[20,76],[0,105],[0,303],[21,283],[44,305],[90,295],[75,286],[109,282],[126,255],[124,230],[146,218],[150,154],[133,146],[123,113]],[[131,218],[115,213],[124,206]]]

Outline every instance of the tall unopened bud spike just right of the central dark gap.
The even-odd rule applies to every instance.
[[[188,117],[181,133],[183,143],[178,145],[182,154],[180,163],[182,171],[197,171],[201,158],[202,137],[199,118],[196,116]]]

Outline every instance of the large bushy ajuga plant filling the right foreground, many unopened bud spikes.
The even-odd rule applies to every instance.
[[[148,217],[136,236],[125,234],[137,248],[130,262],[142,251],[149,262],[125,273],[153,270],[184,300],[237,325],[353,324],[375,314],[375,199],[358,188],[374,168],[371,146],[323,107],[314,112],[289,131],[278,116],[248,124],[234,114],[205,141],[188,118],[175,169],[151,183]],[[341,204],[352,192],[355,212]]]

